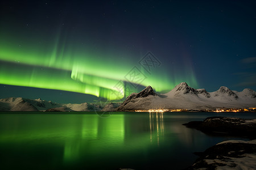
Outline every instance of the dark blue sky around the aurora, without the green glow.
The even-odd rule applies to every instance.
[[[195,88],[256,90],[256,1],[5,1],[0,6],[0,28],[12,28],[14,35],[31,32],[51,41],[53,30],[64,27],[70,43],[129,54],[134,61],[150,51],[170,79],[183,81],[192,71]],[[1,98],[64,103],[97,99],[3,84],[0,92]]]

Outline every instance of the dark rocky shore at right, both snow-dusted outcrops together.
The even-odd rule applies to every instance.
[[[200,157],[186,170],[256,169],[256,119],[208,117],[204,121],[192,121],[183,125],[200,130],[205,134],[233,135],[254,139],[251,141],[224,141],[204,152],[194,152]]]

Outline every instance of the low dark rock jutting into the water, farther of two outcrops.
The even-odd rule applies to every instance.
[[[243,120],[234,117],[208,117],[204,121],[192,121],[183,124],[206,134],[234,135],[256,139],[256,119]]]

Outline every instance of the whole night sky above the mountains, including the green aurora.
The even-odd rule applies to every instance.
[[[256,1],[1,1],[0,98],[256,90]]]

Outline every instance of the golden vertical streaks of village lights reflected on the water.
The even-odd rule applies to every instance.
[[[154,139],[154,131],[156,130],[156,137],[159,145],[159,136],[164,135],[164,126],[163,126],[163,112],[149,112],[150,113],[150,142],[152,143]],[[154,119],[154,114],[156,114]],[[158,115],[159,114],[159,115]],[[156,122],[156,129],[154,124]]]

